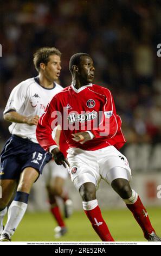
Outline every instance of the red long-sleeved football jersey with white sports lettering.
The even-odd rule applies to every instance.
[[[80,89],[72,85],[53,97],[36,129],[37,140],[45,150],[56,145],[51,132],[58,124],[69,148],[96,150],[114,145],[119,149],[126,142],[110,90],[95,84]],[[73,141],[72,133],[87,130],[93,139],[85,144]]]

